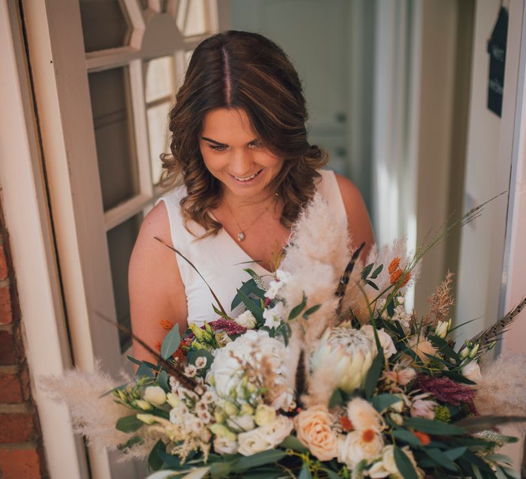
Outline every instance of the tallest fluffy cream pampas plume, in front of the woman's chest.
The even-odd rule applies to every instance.
[[[292,229],[290,246],[280,268],[296,274],[301,266],[319,261],[332,265],[339,275],[350,258],[347,221],[334,218],[327,202],[316,193]]]

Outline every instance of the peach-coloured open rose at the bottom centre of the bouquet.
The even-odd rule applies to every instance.
[[[330,461],[338,455],[338,439],[325,406],[312,406],[295,419],[299,441],[320,461]]]

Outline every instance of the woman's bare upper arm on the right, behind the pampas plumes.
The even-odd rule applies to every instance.
[[[347,212],[347,224],[352,245],[354,248],[358,248],[362,242],[365,243],[364,250],[360,255],[365,259],[371,246],[375,244],[375,236],[362,194],[352,181],[340,174],[336,174],[336,181],[340,187],[343,204]]]

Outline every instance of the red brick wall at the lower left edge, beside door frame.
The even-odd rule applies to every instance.
[[[0,479],[48,478],[0,205]]]

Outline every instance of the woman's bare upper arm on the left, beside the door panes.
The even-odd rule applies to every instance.
[[[143,220],[128,270],[132,329],[134,335],[153,349],[166,335],[160,320],[177,323],[184,331],[187,316],[186,295],[175,253],[155,237],[173,246],[168,212],[163,202]],[[137,341],[134,341],[134,355],[138,359],[152,359]]]

